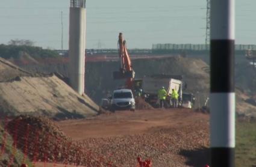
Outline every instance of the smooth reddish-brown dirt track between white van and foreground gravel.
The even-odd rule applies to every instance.
[[[208,121],[208,115],[190,109],[151,111],[117,111],[84,120],[58,122],[58,126],[72,139],[106,138],[111,136],[151,133],[158,129],[182,129],[198,121]]]

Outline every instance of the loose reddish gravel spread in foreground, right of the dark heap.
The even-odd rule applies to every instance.
[[[192,130],[193,129],[193,130]],[[195,130],[198,129],[198,130]],[[208,125],[196,123],[183,129],[160,129],[144,135],[129,135],[114,138],[86,139],[83,145],[92,153],[108,157],[117,166],[136,166],[136,157],[152,160],[155,166],[204,166],[207,157]],[[198,162],[187,162],[195,150],[201,150]]]

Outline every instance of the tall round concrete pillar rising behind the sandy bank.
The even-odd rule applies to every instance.
[[[79,94],[84,93],[86,54],[86,0],[70,0],[69,81]]]

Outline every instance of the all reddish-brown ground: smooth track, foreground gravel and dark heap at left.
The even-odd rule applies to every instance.
[[[117,111],[52,122],[20,116],[7,124],[17,148],[36,166],[204,166],[209,162],[209,115],[190,109]],[[28,144],[28,145],[27,145]]]

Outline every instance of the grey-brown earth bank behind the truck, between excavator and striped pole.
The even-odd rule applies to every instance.
[[[137,59],[133,61],[136,77],[152,74],[182,75],[187,91],[196,93],[210,88],[209,65],[201,59],[173,56],[161,59]]]

